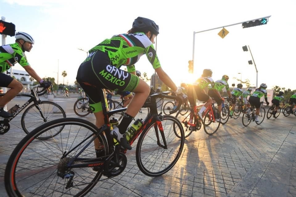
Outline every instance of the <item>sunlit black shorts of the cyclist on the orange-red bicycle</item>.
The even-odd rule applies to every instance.
[[[206,102],[210,98],[199,86],[195,85],[188,86],[187,96],[191,107],[196,106],[196,99]]]

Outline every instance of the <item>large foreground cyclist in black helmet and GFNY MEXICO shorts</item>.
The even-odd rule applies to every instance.
[[[98,97],[98,90],[105,88],[135,93],[121,123],[111,131],[121,146],[129,150],[131,146],[125,137],[125,131],[150,93],[150,86],[135,74],[134,64],[143,54],[146,54],[162,82],[177,95],[183,96],[182,89],[178,88],[162,70],[153,46],[158,34],[159,28],[154,21],[138,17],[127,34],[114,35],[89,50],[88,57],[81,63],[77,72],[77,82],[88,95],[90,107],[96,116],[97,127],[104,124],[101,104],[104,101]],[[119,69],[122,65],[127,66],[128,72]],[[185,94],[183,98],[186,99]],[[101,148],[98,140],[95,141],[95,148],[99,156]]]

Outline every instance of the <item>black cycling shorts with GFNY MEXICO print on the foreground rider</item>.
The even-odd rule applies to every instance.
[[[76,80],[88,96],[93,112],[102,111],[98,90],[133,91],[138,86],[136,75],[120,70],[110,62],[108,55],[98,50],[90,53],[78,68]]]

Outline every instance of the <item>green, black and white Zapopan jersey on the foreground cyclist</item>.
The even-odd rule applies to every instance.
[[[127,66],[128,72],[135,71],[132,65],[138,62],[143,54],[146,54],[154,69],[160,67],[153,43],[141,32],[135,34],[119,34],[113,36],[111,39],[105,39],[89,50],[89,53],[91,54],[96,50],[108,54],[112,66],[116,66],[117,68],[120,68],[122,65]]]

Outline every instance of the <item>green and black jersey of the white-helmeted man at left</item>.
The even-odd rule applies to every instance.
[[[17,62],[21,66],[30,65],[18,43],[0,46],[0,73],[10,69]]]

